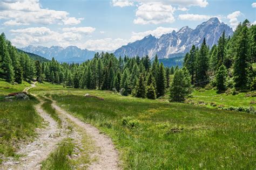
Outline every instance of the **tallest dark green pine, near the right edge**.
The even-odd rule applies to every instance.
[[[250,67],[250,44],[247,26],[244,26],[239,38],[237,56],[234,61],[234,85],[236,88],[247,88],[248,68]]]

